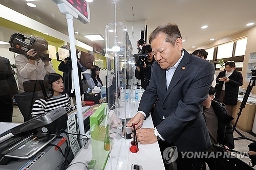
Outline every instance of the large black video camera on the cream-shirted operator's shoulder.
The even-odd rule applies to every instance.
[[[11,45],[9,48],[10,52],[23,54],[31,60],[41,58],[42,61],[51,61],[49,54],[44,53],[48,50],[48,46],[37,42],[34,37],[26,37],[23,34],[15,33],[11,35],[9,43]],[[27,52],[32,48],[37,52],[35,57],[27,55]]]

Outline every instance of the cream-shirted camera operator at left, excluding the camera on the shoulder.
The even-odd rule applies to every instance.
[[[15,57],[19,92],[24,92],[25,81],[44,80],[45,75],[55,72],[47,54],[48,42],[41,37],[35,37],[35,40],[39,44],[38,49],[32,48],[26,54]]]

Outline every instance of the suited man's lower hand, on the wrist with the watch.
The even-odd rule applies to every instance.
[[[154,134],[154,129],[142,128],[136,130],[137,140],[141,144],[152,144],[157,142],[157,137]]]

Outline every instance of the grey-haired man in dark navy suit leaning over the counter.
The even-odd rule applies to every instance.
[[[142,95],[138,113],[126,126],[136,124],[137,139],[142,144],[159,141],[162,153],[174,144],[179,153],[178,169],[200,169],[200,159],[182,158],[182,152],[201,152],[211,145],[202,102],[214,80],[214,64],[182,48],[181,34],[175,24],[158,26],[149,42],[156,59],[150,84]],[[152,114],[155,128],[140,129],[155,102]],[[166,169],[168,163],[165,162]]]

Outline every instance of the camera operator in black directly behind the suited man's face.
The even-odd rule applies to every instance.
[[[139,44],[139,41],[137,42],[138,45],[138,50],[140,54],[142,52],[142,54],[146,54],[147,53],[147,57],[140,59],[139,57],[139,62],[143,62],[144,64],[142,65],[138,65],[138,61],[136,62],[136,69],[135,69],[135,77],[138,80],[141,80],[141,87],[143,89],[146,89],[148,84],[150,84],[150,77],[151,77],[151,66],[152,63],[155,61],[155,58],[153,56],[152,53],[152,48],[151,45],[146,45],[145,42],[142,44]],[[142,51],[140,49],[140,45],[142,45]]]

